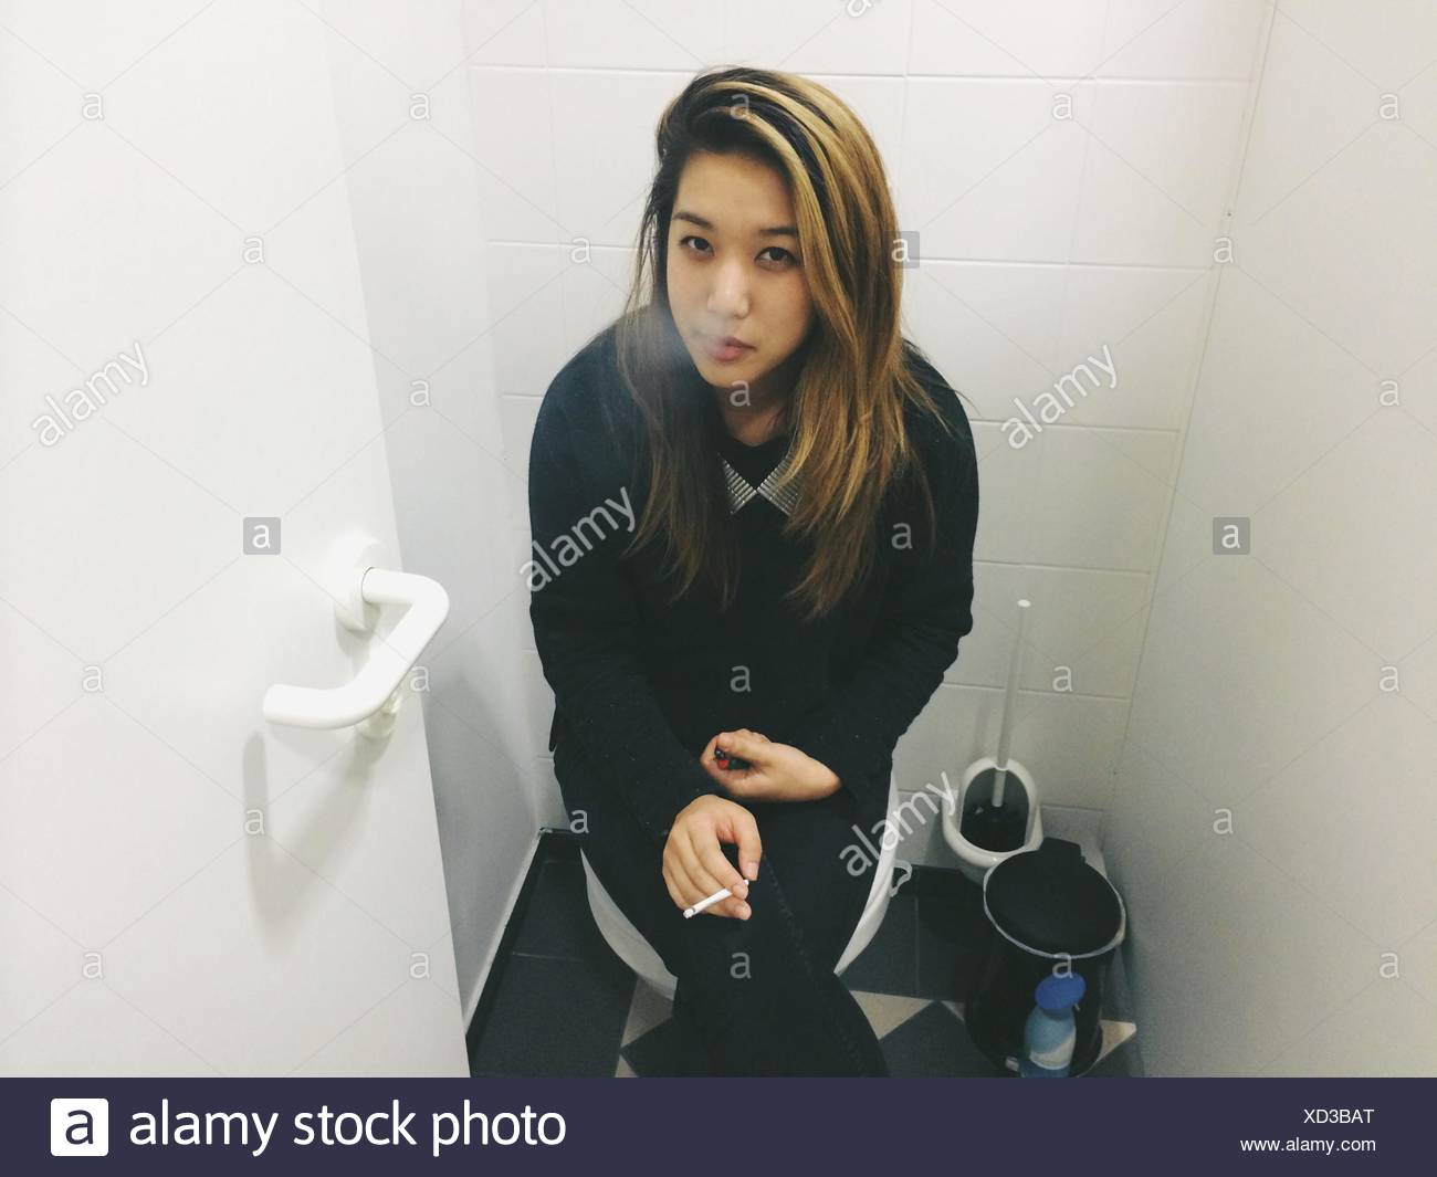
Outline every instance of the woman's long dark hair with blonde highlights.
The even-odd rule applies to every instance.
[[[946,423],[910,366],[925,356],[900,328],[902,269],[892,254],[898,230],[882,161],[829,89],[747,68],[697,75],[660,118],[657,147],[632,283],[614,333],[619,372],[648,435],[651,490],[631,549],[665,540],[668,569],[680,581],[675,599],[700,576],[718,591],[721,608],[733,599],[739,550],[723,473],[703,428],[713,392],[674,326],[667,266],[685,161],[696,151],[741,152],[787,178],[815,309],[786,407],[790,477],[802,494],[783,525],[785,536],[810,549],[789,598],[812,621],[867,581],[884,496],[910,467],[933,536],[933,497],[904,407]]]

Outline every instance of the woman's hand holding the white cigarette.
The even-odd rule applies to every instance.
[[[739,846],[743,874],[724,857],[720,849],[723,842]],[[727,887],[733,891],[729,898],[698,914],[747,920],[746,880],[759,877],[762,857],[759,823],[753,813],[737,802],[704,793],[680,809],[668,829],[668,841],[664,844],[664,882],[668,885],[668,895],[685,910]]]

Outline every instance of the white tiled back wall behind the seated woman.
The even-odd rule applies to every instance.
[[[1262,6],[1187,0],[547,3],[474,66],[480,137],[506,181],[491,253],[555,283],[563,331],[496,332],[510,464],[547,379],[618,313],[664,103],[696,70],[806,73],[849,102],[884,154],[901,227],[905,328],[969,397],[981,458],[976,624],[900,743],[905,792],[996,752],[1015,602],[1027,596],[1013,754],[1046,805],[1095,825],[1108,803],[1207,329],[1213,240],[1239,162]],[[1068,119],[1055,109],[1071,108]],[[484,126],[484,111],[494,118]],[[499,111],[504,118],[499,118]],[[598,244],[568,264],[565,241]],[[559,243],[556,246],[556,241]],[[516,279],[506,260],[493,282]],[[550,303],[546,303],[550,306]],[[1000,424],[1086,356],[1117,364],[1023,450]],[[514,520],[527,545],[527,520]],[[550,696],[527,644],[545,756]],[[1071,667],[1071,690],[1061,687]],[[563,818],[558,789],[545,816]],[[911,861],[954,865],[937,829]]]

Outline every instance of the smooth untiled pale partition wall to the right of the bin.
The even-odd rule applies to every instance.
[[[1148,1074],[1431,1075],[1437,11],[1285,0],[1260,95],[1105,849]]]

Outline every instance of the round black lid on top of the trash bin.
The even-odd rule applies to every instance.
[[[1076,842],[1045,838],[1004,858],[983,880],[993,926],[1039,953],[1086,956],[1106,948],[1122,927],[1122,900],[1082,859]]]

